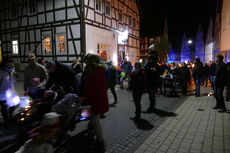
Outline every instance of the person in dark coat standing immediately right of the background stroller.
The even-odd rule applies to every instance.
[[[178,81],[181,85],[183,95],[187,93],[187,83],[190,80],[190,71],[186,63],[182,64],[182,67],[178,70]]]

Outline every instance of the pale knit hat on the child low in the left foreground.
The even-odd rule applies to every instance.
[[[57,114],[56,112],[50,112],[50,113],[46,113],[43,117],[42,120],[42,125],[43,126],[51,126],[56,124],[59,121],[59,114]]]

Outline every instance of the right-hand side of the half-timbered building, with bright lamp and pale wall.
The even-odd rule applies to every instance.
[[[140,19],[136,0],[85,0],[86,53],[104,60],[139,59]]]

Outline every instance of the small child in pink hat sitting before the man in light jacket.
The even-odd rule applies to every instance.
[[[45,89],[40,86],[40,79],[32,79],[32,87],[30,87],[28,95],[36,102],[44,97]]]

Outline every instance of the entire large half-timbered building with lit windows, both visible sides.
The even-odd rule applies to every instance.
[[[16,62],[28,51],[67,63],[87,53],[115,63],[139,53],[135,0],[1,0],[0,14],[1,51]]]

